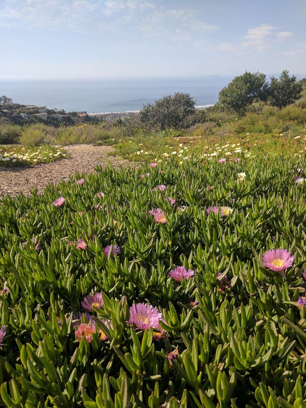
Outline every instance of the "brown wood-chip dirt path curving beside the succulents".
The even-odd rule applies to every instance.
[[[53,163],[38,164],[31,167],[0,167],[0,196],[29,194],[30,188],[37,187],[38,193],[44,191],[48,183],[67,180],[74,173],[93,173],[98,164],[111,164],[119,167],[129,163],[120,156],[109,156],[112,146],[93,146],[91,144],[76,144],[66,146],[70,157]]]

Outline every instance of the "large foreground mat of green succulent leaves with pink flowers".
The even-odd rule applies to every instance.
[[[306,160],[225,157],[2,199],[0,406],[306,406]]]

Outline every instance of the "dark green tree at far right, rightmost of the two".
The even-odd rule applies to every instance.
[[[289,76],[289,71],[284,70],[279,78],[271,77],[269,89],[269,102],[279,109],[290,105],[299,98],[303,89],[303,80],[297,81],[297,77]]]

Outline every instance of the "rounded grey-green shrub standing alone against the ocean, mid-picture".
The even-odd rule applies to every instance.
[[[140,122],[150,131],[167,128],[186,129],[203,120],[203,114],[195,114],[195,100],[188,93],[177,92],[145,105],[140,113]]]

